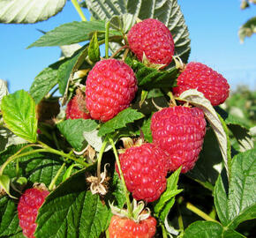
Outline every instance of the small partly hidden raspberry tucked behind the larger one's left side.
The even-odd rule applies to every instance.
[[[90,119],[91,116],[86,112],[86,102],[81,94],[76,94],[66,107],[66,119]]]

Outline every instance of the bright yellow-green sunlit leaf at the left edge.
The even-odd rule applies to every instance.
[[[36,141],[35,103],[24,90],[4,96],[1,104],[4,123],[18,137]]]

